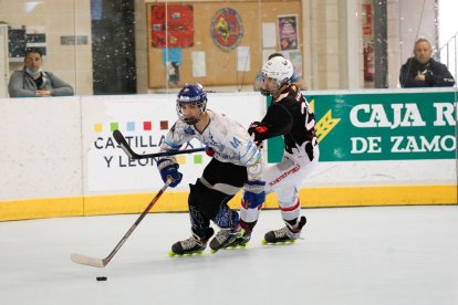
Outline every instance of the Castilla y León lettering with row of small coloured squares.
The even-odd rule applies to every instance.
[[[150,154],[159,151],[165,135],[168,133],[168,120],[143,120],[143,122],[111,122],[105,124],[94,124],[93,130],[96,133],[92,147],[96,151],[102,151],[103,159],[107,168],[112,167],[138,167],[153,166],[154,158],[131,159],[121,149],[119,145],[113,137],[113,132],[118,129],[125,135],[125,140],[132,149],[139,154]],[[190,143],[185,144],[181,149],[195,148]],[[187,158],[192,158],[194,164],[202,162],[201,154],[192,154],[187,156],[177,156],[179,165],[187,164]]]

